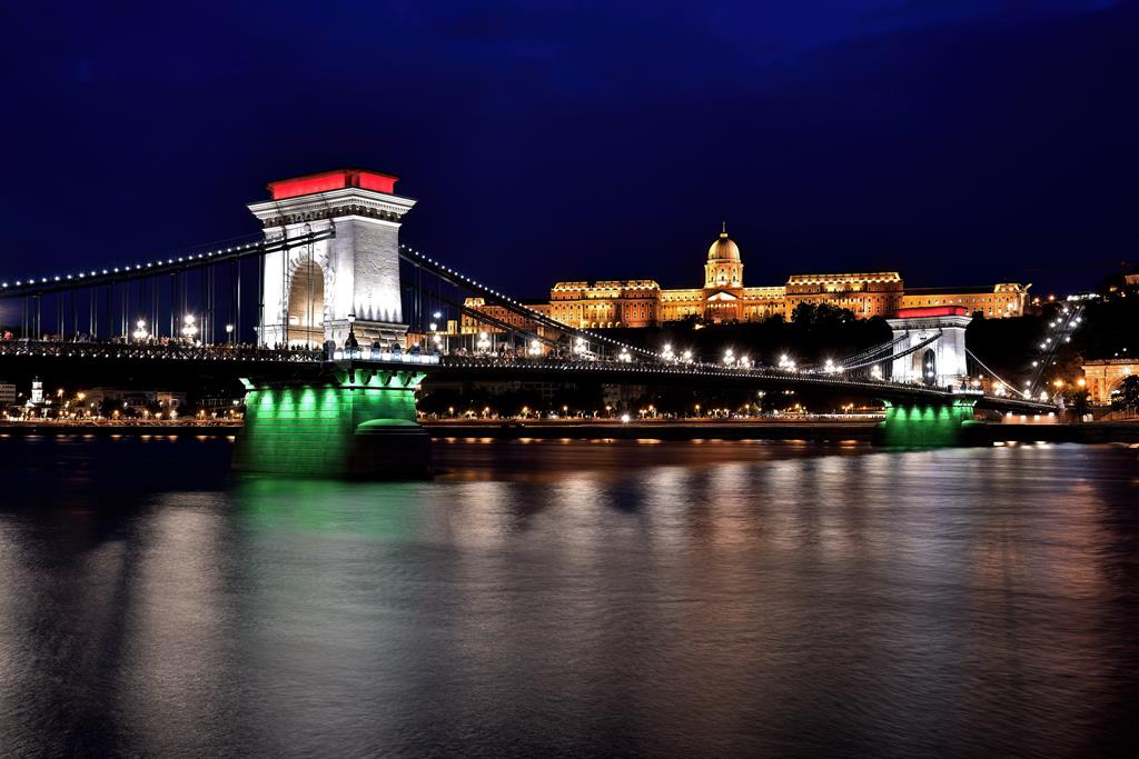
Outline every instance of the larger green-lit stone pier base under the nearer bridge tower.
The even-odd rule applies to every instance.
[[[318,381],[243,380],[233,470],[285,477],[421,479],[431,436],[416,421],[415,371],[335,364]]]

